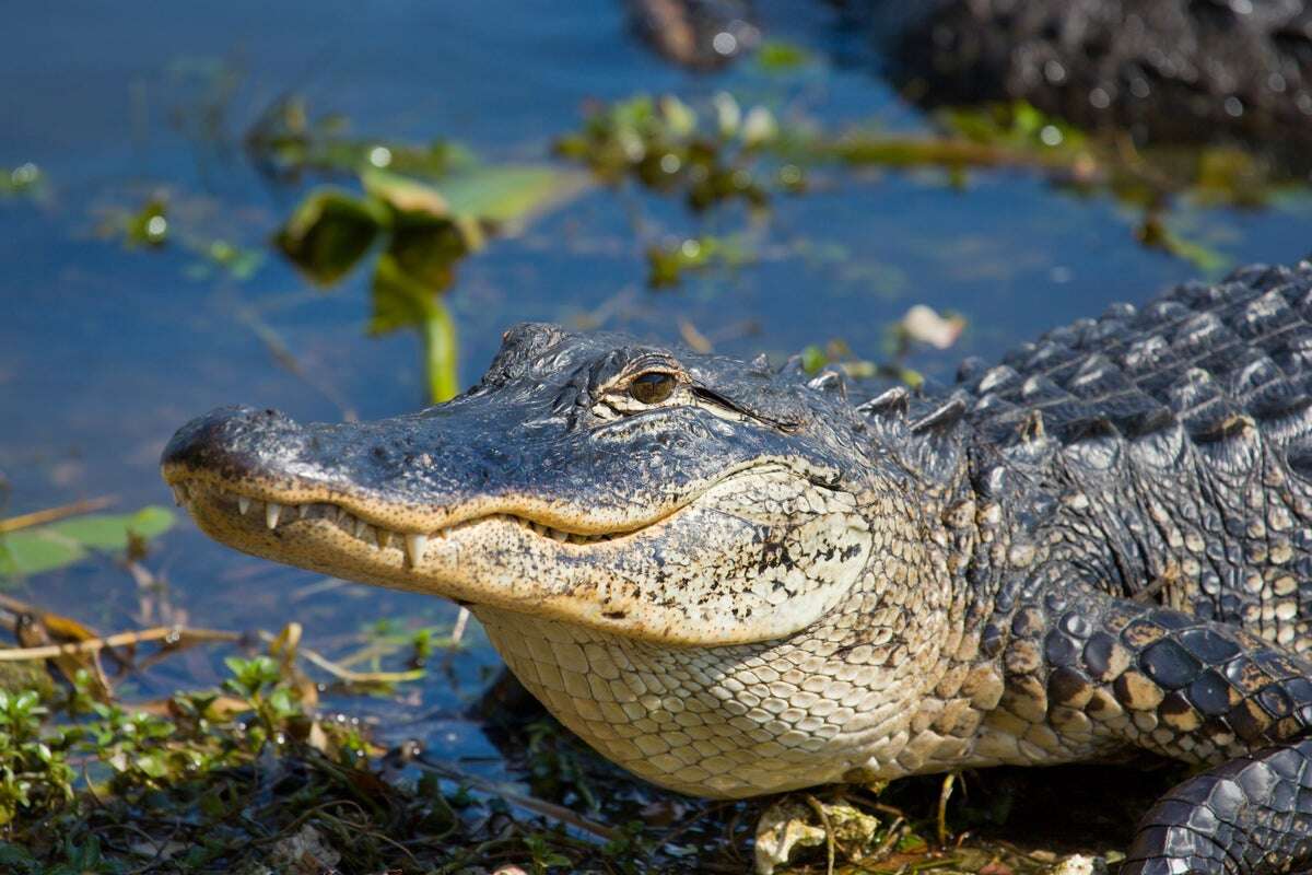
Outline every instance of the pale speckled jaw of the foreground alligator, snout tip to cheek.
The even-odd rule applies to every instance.
[[[832,585],[790,594],[782,579],[769,582],[770,573],[753,593],[723,580],[726,568],[758,565],[761,544],[771,537],[736,502],[744,495],[748,504],[756,501],[761,489],[791,487],[803,495],[813,488],[777,463],[731,471],[685,496],[674,510],[610,531],[602,529],[605,517],[580,517],[563,529],[559,508],[548,523],[534,514],[533,502],[516,505],[504,496],[496,504],[447,509],[447,525],[416,531],[388,525],[400,512],[390,513],[384,502],[314,487],[276,488],[269,479],[249,478],[234,489],[215,472],[180,464],[165,464],[164,478],[206,534],[243,552],[663,644],[771,640],[812,622],[848,582],[840,575]],[[830,501],[838,502],[834,513],[851,517],[850,499]],[[859,521],[836,525],[837,537],[863,556],[869,535],[850,527]],[[708,540],[722,544],[716,561],[698,559]]]

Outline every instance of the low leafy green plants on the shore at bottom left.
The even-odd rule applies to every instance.
[[[222,689],[135,708],[101,702],[85,673],[63,693],[0,690],[0,868],[646,870],[630,833],[558,815],[597,833],[580,838],[413,752],[379,758],[357,724],[315,712],[294,660],[226,662]]]

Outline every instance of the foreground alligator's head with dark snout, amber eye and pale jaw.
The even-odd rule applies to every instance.
[[[834,378],[521,325],[450,403],[333,425],[222,408],[178,430],[163,472],[223,543],[470,605],[529,687],[611,758],[690,792],[749,795],[816,777],[653,770],[588,731],[589,703],[552,701],[560,666],[516,653],[555,641],[534,651],[541,665],[562,640],[586,640],[673,665],[720,648],[724,680],[815,630],[830,649],[837,626],[859,626],[862,643],[921,640],[900,606],[937,589],[878,582],[893,573],[887,561],[914,565],[924,548],[916,502],[888,485],[891,463],[870,458]],[[891,594],[871,594],[872,575]],[[657,718],[665,704],[648,702]],[[758,744],[739,746],[756,756]]]

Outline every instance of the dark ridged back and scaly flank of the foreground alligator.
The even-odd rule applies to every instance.
[[[959,382],[976,492],[1054,559],[1312,648],[1312,264],[1114,306]]]

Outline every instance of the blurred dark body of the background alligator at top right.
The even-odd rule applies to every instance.
[[[851,14],[907,16],[848,0]],[[1085,129],[1284,155],[1312,143],[1305,0],[941,0],[891,42],[893,73],[929,102],[1025,100]],[[899,12],[895,12],[899,10]]]

